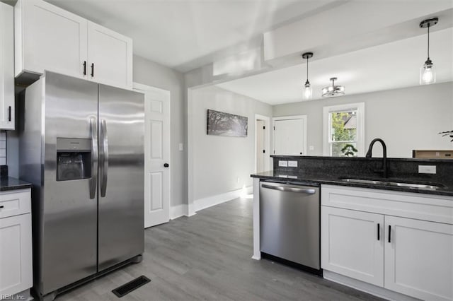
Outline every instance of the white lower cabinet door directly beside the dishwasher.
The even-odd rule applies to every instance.
[[[322,268],[384,285],[382,214],[323,206],[321,223]]]

